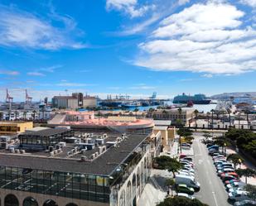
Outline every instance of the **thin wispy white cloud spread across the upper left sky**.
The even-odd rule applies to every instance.
[[[46,21],[42,17],[13,7],[0,6],[0,46],[21,46],[42,50],[86,47],[85,44],[70,37],[71,34],[76,33],[73,19],[65,17],[57,20],[68,25],[69,28],[52,26],[52,22],[52,19]]]

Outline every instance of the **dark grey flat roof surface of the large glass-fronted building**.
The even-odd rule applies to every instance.
[[[73,149],[74,145],[68,143],[63,148],[63,152],[56,156],[49,156],[49,152],[46,151],[28,151],[25,154],[17,154],[2,149],[0,150],[0,165],[107,176],[147,138],[147,135],[138,134],[127,134],[126,136],[117,146],[109,147],[100,156],[90,161],[82,161],[81,156],[90,156],[94,151],[98,151],[98,147],[86,151],[83,155],[78,153],[69,158],[66,156],[66,152]],[[121,137],[121,134],[108,134],[106,141],[114,141],[117,137]]]

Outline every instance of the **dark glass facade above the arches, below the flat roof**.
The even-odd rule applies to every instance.
[[[109,177],[0,166],[0,187],[109,203]]]

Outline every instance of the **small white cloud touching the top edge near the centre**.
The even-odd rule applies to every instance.
[[[107,9],[116,9],[128,13],[130,17],[142,17],[145,12],[154,6],[138,6],[138,0],[107,0]]]

